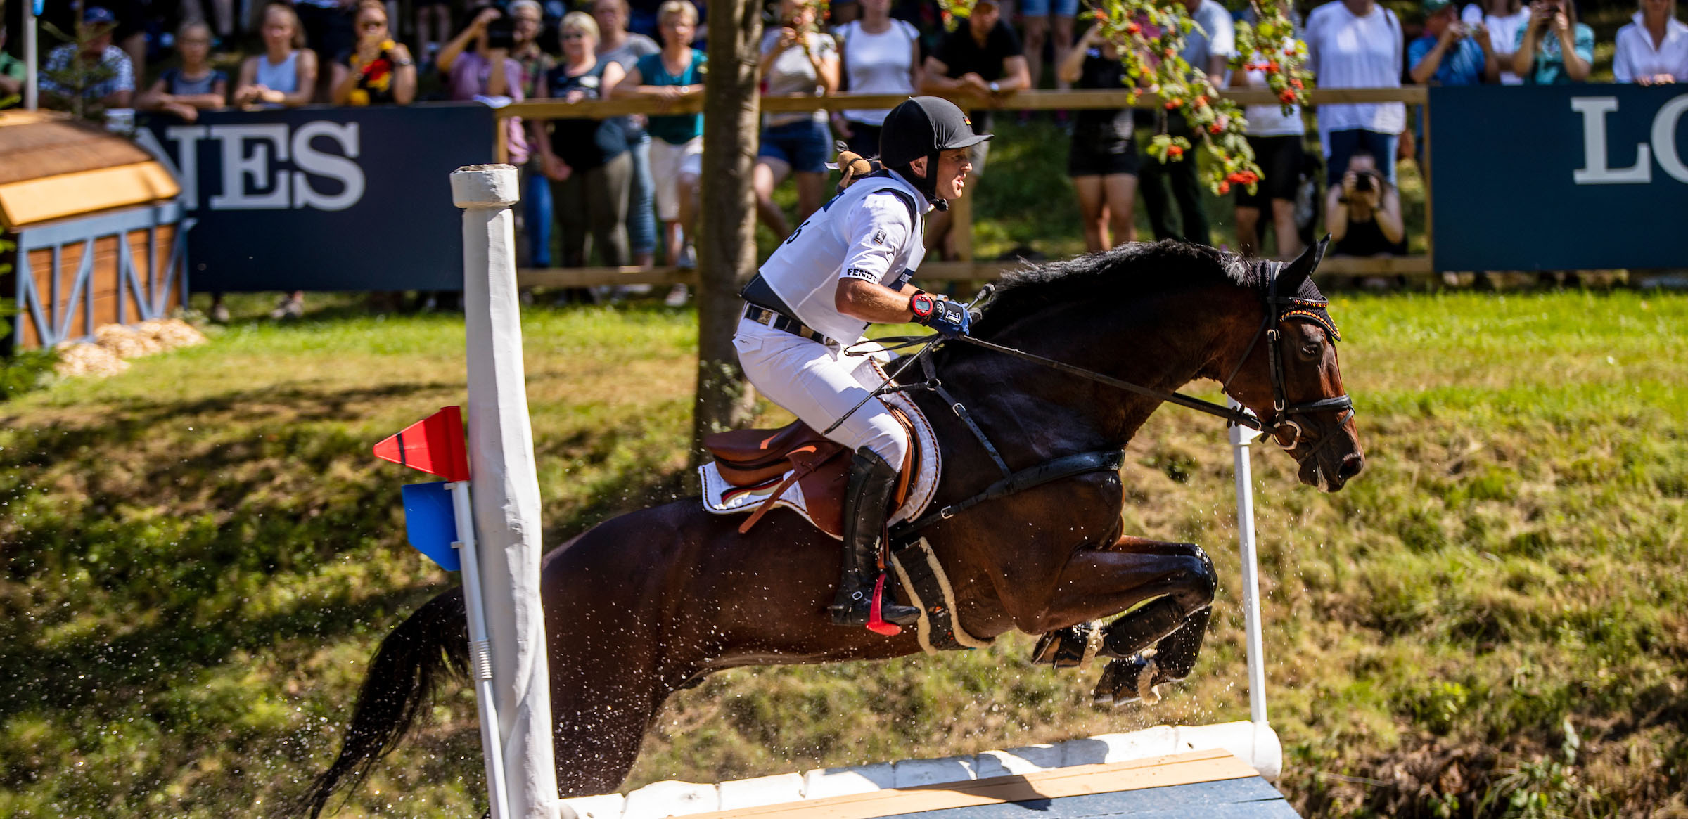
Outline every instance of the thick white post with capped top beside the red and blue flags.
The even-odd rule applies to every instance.
[[[503,740],[508,819],[554,819],[550,675],[540,605],[540,503],[522,366],[511,165],[451,174],[463,208],[463,309],[469,366],[469,473],[479,542],[481,599],[493,648],[493,694]],[[506,819],[506,817],[500,817]]]

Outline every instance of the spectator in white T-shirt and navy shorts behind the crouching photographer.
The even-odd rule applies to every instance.
[[[1307,68],[1320,88],[1399,88],[1406,46],[1401,20],[1376,0],[1332,0],[1307,15]],[[1318,106],[1325,177],[1337,184],[1349,157],[1364,147],[1394,184],[1394,154],[1406,128],[1404,103]]]

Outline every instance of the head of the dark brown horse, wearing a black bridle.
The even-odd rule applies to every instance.
[[[1328,240],[1327,240],[1328,241]],[[1259,328],[1229,351],[1225,393],[1252,410],[1301,466],[1301,483],[1337,491],[1366,464],[1337,365],[1337,324],[1313,285],[1325,241],[1278,267],[1259,267]]]

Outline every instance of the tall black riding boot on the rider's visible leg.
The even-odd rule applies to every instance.
[[[832,623],[864,626],[873,610],[873,584],[879,578],[876,561],[879,534],[890,515],[891,490],[896,488],[896,469],[873,449],[861,447],[849,463],[849,488],[844,491],[844,576],[832,598]],[[920,610],[885,601],[879,616],[890,623],[910,625],[920,620]]]

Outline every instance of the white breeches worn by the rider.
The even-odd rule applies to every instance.
[[[871,390],[885,383],[874,372],[871,356],[846,356],[837,348],[749,319],[739,319],[733,348],[738,350],[739,366],[749,383],[817,432],[868,399],[827,437],[852,453],[866,446],[893,469],[901,469],[908,454],[908,434],[885,402],[869,397]]]

